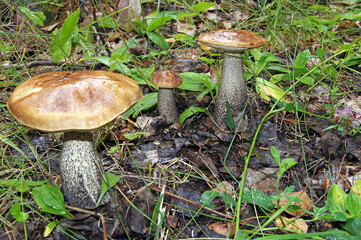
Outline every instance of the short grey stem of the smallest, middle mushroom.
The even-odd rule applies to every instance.
[[[158,111],[167,119],[168,123],[178,122],[178,109],[175,104],[173,89],[159,88]]]

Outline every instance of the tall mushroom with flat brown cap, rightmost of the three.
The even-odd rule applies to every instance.
[[[223,52],[223,74],[216,96],[215,119],[219,126],[225,128],[226,102],[231,107],[234,121],[238,122],[247,100],[242,53],[248,49],[263,46],[267,41],[255,33],[244,30],[216,30],[202,33],[198,36],[198,41]]]

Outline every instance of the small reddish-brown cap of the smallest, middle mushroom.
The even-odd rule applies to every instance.
[[[171,70],[159,71],[152,76],[152,83],[160,88],[176,88],[182,81],[182,77]]]

